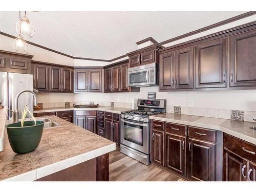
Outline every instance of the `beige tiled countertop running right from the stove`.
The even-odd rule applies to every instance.
[[[153,115],[150,116],[150,119],[197,126],[211,130],[219,130],[256,145],[256,130],[249,129],[251,125],[256,126],[256,123],[252,122],[233,121],[228,119],[200,117],[193,115],[180,115],[174,113]]]

